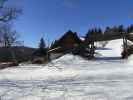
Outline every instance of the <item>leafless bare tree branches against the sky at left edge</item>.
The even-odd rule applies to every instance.
[[[4,47],[10,47],[17,42],[18,34],[12,29],[13,19],[21,13],[21,9],[9,7],[8,0],[0,0],[0,43]]]

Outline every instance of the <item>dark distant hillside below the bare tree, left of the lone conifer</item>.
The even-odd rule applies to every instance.
[[[29,47],[12,47],[12,48],[0,48],[0,61],[10,61],[16,59],[18,61],[26,61],[31,58],[35,48]]]

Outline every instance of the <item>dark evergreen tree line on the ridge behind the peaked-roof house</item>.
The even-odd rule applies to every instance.
[[[133,25],[129,25],[127,28],[125,28],[123,25],[119,26],[112,26],[112,27],[106,27],[105,29],[101,28],[92,28],[89,29],[88,32],[83,36],[85,38],[86,42],[91,42],[92,38],[98,37],[101,38],[102,36],[108,36],[108,35],[123,35],[132,33],[133,32]],[[65,33],[66,34],[66,33]],[[51,43],[51,49],[58,47],[59,40],[54,40]]]

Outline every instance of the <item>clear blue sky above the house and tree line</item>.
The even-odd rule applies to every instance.
[[[67,30],[84,35],[89,28],[133,23],[133,0],[12,0],[23,9],[14,28],[25,45],[37,47],[41,37],[58,39]]]

